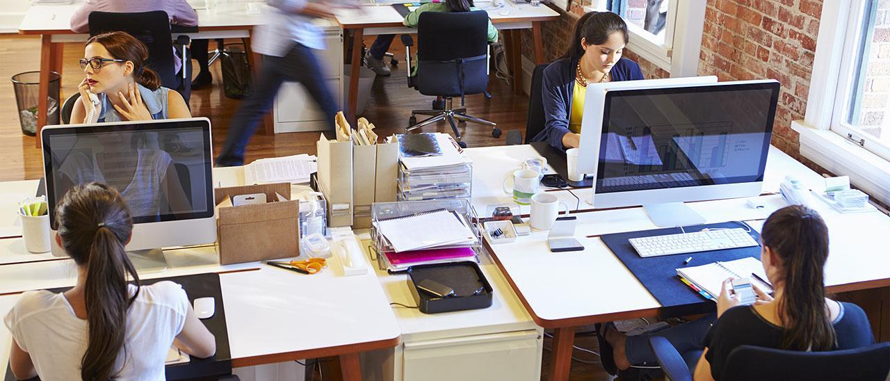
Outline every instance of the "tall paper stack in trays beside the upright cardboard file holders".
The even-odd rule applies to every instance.
[[[473,164],[448,134],[399,134],[398,199],[468,199]]]

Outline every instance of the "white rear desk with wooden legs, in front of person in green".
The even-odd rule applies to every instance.
[[[531,28],[535,47],[535,63],[544,63],[544,47],[541,37],[541,22],[558,20],[559,12],[547,5],[531,6],[530,4],[513,4],[506,2],[503,8],[492,8],[490,3],[482,10],[489,12],[491,23],[495,28],[509,31],[505,36],[507,64],[514,72],[514,92],[522,92],[522,62],[520,61],[520,36],[516,29]],[[501,12],[506,14],[501,14]],[[362,37],[365,35],[386,35],[414,33],[416,29],[402,25],[404,18],[390,5],[361,6],[355,10],[339,12],[336,21],[340,28],[352,30],[352,60],[361,60]],[[349,100],[345,105],[346,117],[355,124],[356,104],[359,92],[359,65],[352,65],[349,83]]]

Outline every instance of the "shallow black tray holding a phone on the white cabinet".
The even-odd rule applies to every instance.
[[[455,296],[435,297],[415,286],[423,280],[435,280],[454,289]],[[408,269],[408,288],[424,313],[452,312],[488,308],[491,305],[492,288],[479,265],[474,262],[434,263],[411,266]],[[473,295],[482,288],[478,295]]]

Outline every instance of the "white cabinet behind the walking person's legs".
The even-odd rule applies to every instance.
[[[326,49],[315,51],[319,66],[334,100],[342,105],[343,99],[343,30],[330,21],[318,21],[324,28]],[[320,74],[322,75],[322,74]],[[326,131],[330,128],[318,103],[302,84],[286,82],[279,89],[274,107],[275,133]]]

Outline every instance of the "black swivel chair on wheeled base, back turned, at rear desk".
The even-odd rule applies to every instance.
[[[445,99],[443,109],[416,109],[411,111],[409,127],[405,132],[447,120],[457,142],[461,136],[457,123],[465,126],[473,122],[491,126],[491,136],[500,137],[496,123],[466,115],[465,95],[485,93],[489,84],[489,15],[475,12],[423,12],[417,22],[417,75],[411,77],[411,36],[402,35],[401,41],[408,51],[408,85],[424,95],[436,95]],[[460,108],[452,107],[453,98],[460,97]],[[430,118],[417,123],[417,114]]]

